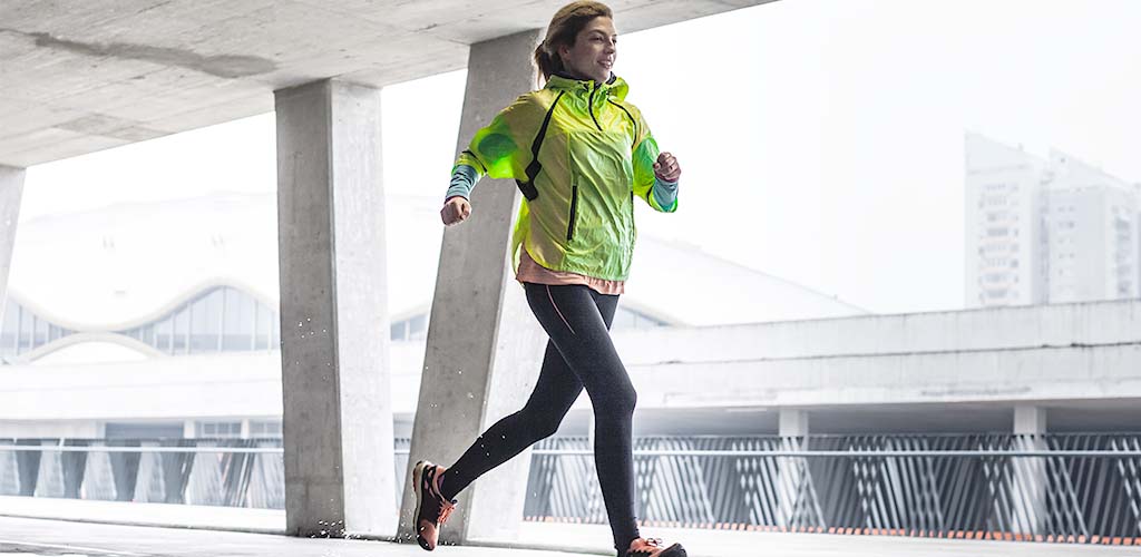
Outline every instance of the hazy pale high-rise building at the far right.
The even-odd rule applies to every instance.
[[[1060,151],[965,140],[964,305],[1139,296],[1138,187]]]

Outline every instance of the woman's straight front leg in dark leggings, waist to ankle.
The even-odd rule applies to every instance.
[[[614,547],[621,555],[639,533],[632,451],[637,393],[609,333],[618,297],[578,285],[525,286],[531,309],[594,407],[594,465]]]

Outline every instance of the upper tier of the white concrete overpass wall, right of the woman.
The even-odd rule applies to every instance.
[[[1127,299],[679,328],[652,334],[624,331],[615,340],[621,339],[629,366],[665,360],[707,361],[710,347],[717,347],[718,361],[742,361],[1135,344],[1141,342],[1139,322],[1141,300]]]

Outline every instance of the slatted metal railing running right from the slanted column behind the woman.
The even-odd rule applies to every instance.
[[[588,439],[542,442],[526,517],[605,524]],[[1141,543],[1141,435],[636,439],[647,524]]]

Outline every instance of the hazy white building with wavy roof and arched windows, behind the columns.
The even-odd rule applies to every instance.
[[[418,239],[388,253],[394,419],[407,436],[443,226],[438,199],[391,203],[388,226]],[[280,345],[298,324],[281,322],[274,218],[272,194],[222,194],[24,224],[0,320],[13,389],[0,437],[281,437]],[[632,365],[659,350],[631,333],[867,313],[648,235],[636,258],[613,323]],[[584,430],[586,413],[572,418]]]

